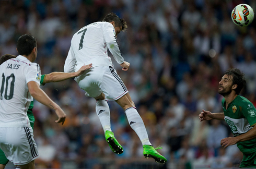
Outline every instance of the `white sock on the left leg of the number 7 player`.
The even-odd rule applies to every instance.
[[[112,131],[110,128],[110,110],[106,100],[98,100],[96,102],[96,113],[100,118],[104,133],[106,130]]]

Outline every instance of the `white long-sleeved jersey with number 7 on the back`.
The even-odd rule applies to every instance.
[[[112,66],[108,49],[115,61],[122,64],[115,30],[109,22],[94,22],[77,31],[71,40],[71,47],[64,65],[64,72],[75,72],[83,65]]]

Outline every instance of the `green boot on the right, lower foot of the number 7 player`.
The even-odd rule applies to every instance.
[[[154,148],[153,146],[150,145],[143,145],[143,155],[145,158],[153,158],[157,163],[162,163],[165,164],[167,162],[166,158],[162,156],[159,152],[156,150],[162,149],[162,147],[157,147]]]

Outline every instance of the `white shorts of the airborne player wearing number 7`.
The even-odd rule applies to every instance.
[[[118,100],[128,93],[117,71],[111,66],[92,67],[75,80],[86,91],[85,95],[92,98],[104,93],[106,100]]]

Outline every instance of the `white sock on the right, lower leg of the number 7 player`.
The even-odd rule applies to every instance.
[[[141,116],[138,114],[136,107],[127,108],[125,110],[125,114],[127,116],[130,126],[136,132],[139,139],[141,140],[142,145],[152,145],[149,142],[146,127],[143,123]]]

